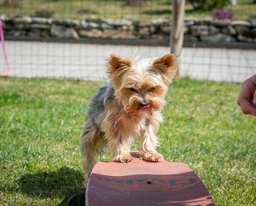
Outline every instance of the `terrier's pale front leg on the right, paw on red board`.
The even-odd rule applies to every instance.
[[[148,125],[146,129],[141,130],[140,152],[141,158],[145,161],[158,162],[163,160],[163,156],[156,151],[158,146],[156,129]]]

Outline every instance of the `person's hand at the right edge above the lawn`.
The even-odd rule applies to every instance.
[[[256,116],[256,74],[245,80],[237,99],[244,114]]]

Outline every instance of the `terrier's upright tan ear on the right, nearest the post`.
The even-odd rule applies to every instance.
[[[158,71],[162,77],[163,82],[167,85],[172,82],[178,69],[174,54],[167,54],[159,59],[156,59],[153,62],[153,67]]]

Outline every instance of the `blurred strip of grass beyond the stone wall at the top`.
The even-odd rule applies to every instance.
[[[2,1],[4,2],[4,1]],[[22,0],[17,7],[6,7],[0,4],[0,12],[8,15],[35,15],[37,10],[53,12],[53,18],[134,18],[156,19],[171,18],[171,0],[148,0],[143,7],[125,6],[125,0]],[[236,6],[226,8],[235,14],[235,19],[247,20],[256,15],[256,4],[252,0],[237,0]],[[81,10],[84,12],[81,13]],[[193,10],[190,4],[186,5],[186,16],[202,18],[210,16],[209,11]]]

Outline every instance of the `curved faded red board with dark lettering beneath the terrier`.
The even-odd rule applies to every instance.
[[[203,182],[184,163],[145,162],[132,152],[129,163],[98,162],[86,189],[86,205],[214,206]]]

